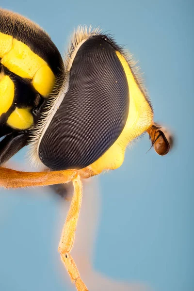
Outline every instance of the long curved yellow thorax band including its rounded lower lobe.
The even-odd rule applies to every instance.
[[[16,75],[32,80],[34,88],[44,97],[51,92],[55,76],[47,62],[27,45],[0,32],[1,64]]]

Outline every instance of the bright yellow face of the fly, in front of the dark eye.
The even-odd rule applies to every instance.
[[[125,150],[129,142],[141,135],[152,123],[153,113],[144,94],[141,92],[128,62],[124,56],[116,51],[129,85],[129,114],[127,122],[118,139],[96,162],[88,166],[96,174],[103,170],[116,169],[124,161]]]

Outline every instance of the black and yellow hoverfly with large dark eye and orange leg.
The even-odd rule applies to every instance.
[[[79,27],[63,62],[38,25],[0,9],[0,186],[73,182],[59,252],[78,291],[88,290],[70,255],[81,179],[120,167],[128,144],[145,132],[158,154],[168,153],[171,136],[154,123],[129,55],[112,37]],[[26,145],[42,172],[3,167]]]

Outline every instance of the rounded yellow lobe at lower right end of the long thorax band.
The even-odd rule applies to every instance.
[[[32,84],[44,97],[48,97],[55,81],[55,76],[48,65],[42,66],[34,75]]]

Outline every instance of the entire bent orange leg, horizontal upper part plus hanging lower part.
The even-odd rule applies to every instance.
[[[0,167],[0,186],[18,188],[27,186],[46,186],[73,181],[74,195],[63,227],[59,252],[77,291],[88,291],[81,280],[78,268],[70,255],[79,218],[82,200],[81,178],[90,178],[95,173],[90,169],[64,170],[53,172],[20,172]]]

